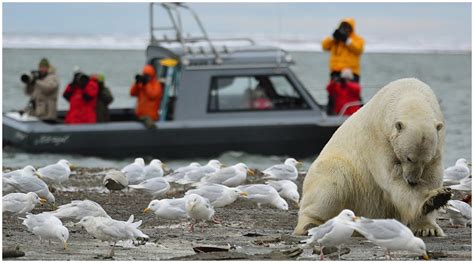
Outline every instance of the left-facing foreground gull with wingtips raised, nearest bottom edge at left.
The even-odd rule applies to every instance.
[[[79,221],[86,231],[95,238],[102,241],[114,242],[108,257],[113,257],[115,244],[120,240],[135,240],[136,238],[150,238],[145,235],[138,227],[142,221],[133,222],[134,216],[131,215],[128,221],[119,221],[107,217],[86,216]]]

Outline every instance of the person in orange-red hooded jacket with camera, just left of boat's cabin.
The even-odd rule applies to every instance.
[[[159,119],[158,110],[163,97],[163,89],[152,65],[145,65],[143,75],[135,76],[130,95],[137,97],[135,114],[139,119],[148,124]]]

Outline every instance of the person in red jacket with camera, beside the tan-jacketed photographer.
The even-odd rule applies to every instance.
[[[69,111],[65,123],[96,123],[96,105],[99,85],[89,76],[76,72],[63,97],[69,101]]]

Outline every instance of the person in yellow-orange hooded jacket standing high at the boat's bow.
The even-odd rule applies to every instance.
[[[339,78],[345,68],[352,70],[354,81],[360,78],[360,56],[364,52],[364,39],[355,33],[355,20],[343,19],[332,37],[322,42],[323,50],[331,52],[329,70],[331,80]]]

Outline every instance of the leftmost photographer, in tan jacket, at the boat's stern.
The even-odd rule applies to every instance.
[[[41,59],[37,71],[23,74],[20,78],[30,101],[24,112],[43,121],[54,122],[57,117],[59,80],[55,69],[46,58]]]

